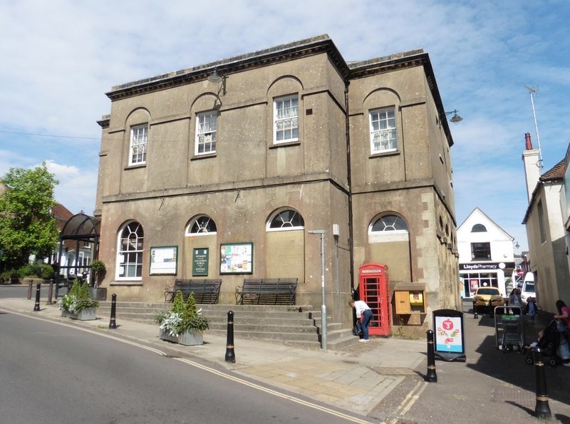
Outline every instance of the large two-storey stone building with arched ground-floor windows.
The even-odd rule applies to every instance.
[[[95,216],[119,299],[201,276],[234,304],[246,277],[296,277],[297,304],[318,309],[324,281],[351,325],[360,270],[380,264],[388,331],[459,307],[453,141],[427,53],[347,63],[324,35],[107,95]]]

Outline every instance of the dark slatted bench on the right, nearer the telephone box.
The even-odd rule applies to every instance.
[[[294,305],[296,289],[296,278],[244,279],[236,287],[236,304]]]

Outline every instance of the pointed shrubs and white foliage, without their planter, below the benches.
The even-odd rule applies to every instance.
[[[155,315],[155,322],[160,329],[170,336],[179,336],[187,330],[203,333],[209,329],[209,321],[202,316],[202,309],[197,309],[194,294],[184,301],[182,291],[177,291],[170,311]]]

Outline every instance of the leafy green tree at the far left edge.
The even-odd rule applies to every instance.
[[[59,183],[46,162],[33,170],[10,168],[1,177],[6,190],[0,195],[0,260],[4,269],[16,269],[30,254],[46,257],[55,249],[58,228],[51,208]]]

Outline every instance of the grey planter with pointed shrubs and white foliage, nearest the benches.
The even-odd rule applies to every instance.
[[[160,338],[187,346],[203,344],[204,331],[209,329],[209,321],[202,316],[202,309],[196,308],[194,294],[184,301],[182,291],[177,291],[170,311],[155,316],[160,324]]]

